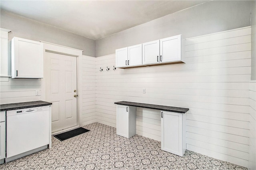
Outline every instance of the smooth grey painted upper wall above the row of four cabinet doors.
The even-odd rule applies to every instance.
[[[96,40],[96,57],[182,34],[183,38],[250,26],[249,0],[212,0]]]

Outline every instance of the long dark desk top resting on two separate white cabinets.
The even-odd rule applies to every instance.
[[[145,103],[136,103],[136,102],[115,102],[115,104],[124,105],[124,106],[135,106],[135,107],[144,107],[148,109],[156,109],[156,110],[163,110],[163,111],[172,111],[176,113],[186,113],[189,109],[183,107],[172,107],[172,106],[162,106],[162,105],[155,105],[155,104],[145,104]]]

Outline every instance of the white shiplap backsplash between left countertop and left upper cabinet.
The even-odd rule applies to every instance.
[[[41,90],[40,79],[0,81],[0,104],[41,100],[41,96],[36,96],[36,90]]]

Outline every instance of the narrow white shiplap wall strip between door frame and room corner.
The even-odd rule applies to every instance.
[[[96,115],[96,58],[82,56],[82,113],[80,125],[87,125],[97,121]]]

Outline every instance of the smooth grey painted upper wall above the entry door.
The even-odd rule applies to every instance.
[[[12,30],[8,34],[9,40],[20,37],[46,41],[84,50],[83,55],[95,56],[94,40],[4,10],[0,10],[0,27]]]

